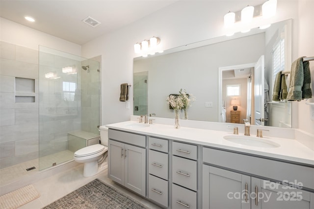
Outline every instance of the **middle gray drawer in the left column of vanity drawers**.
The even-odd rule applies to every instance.
[[[149,173],[162,179],[168,180],[168,154],[149,150],[148,156]]]

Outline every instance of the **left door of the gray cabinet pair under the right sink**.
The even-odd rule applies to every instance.
[[[206,209],[250,209],[251,177],[203,165],[203,206]]]

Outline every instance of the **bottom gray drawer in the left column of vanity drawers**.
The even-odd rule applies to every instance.
[[[149,175],[148,198],[168,208],[168,181]]]

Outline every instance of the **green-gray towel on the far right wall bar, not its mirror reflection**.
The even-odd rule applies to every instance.
[[[291,65],[288,101],[301,101],[312,97],[311,73],[309,61],[303,62],[303,57],[297,58]],[[304,91],[304,92],[303,92]]]

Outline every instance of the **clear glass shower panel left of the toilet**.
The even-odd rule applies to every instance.
[[[39,46],[39,170],[99,137],[100,63]]]

